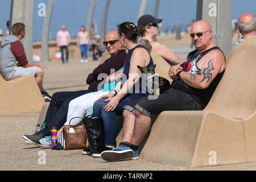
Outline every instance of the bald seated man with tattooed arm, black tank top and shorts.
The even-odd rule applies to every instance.
[[[138,159],[138,147],[151,126],[151,114],[165,110],[202,110],[207,106],[218,82],[224,75],[225,56],[213,43],[212,28],[204,20],[192,27],[191,37],[197,48],[188,54],[192,64],[188,72],[174,65],[170,68],[171,88],[156,100],[148,97],[127,104],[123,111],[123,137],[117,148],[101,153],[107,161]]]

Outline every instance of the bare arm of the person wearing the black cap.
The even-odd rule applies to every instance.
[[[175,65],[180,63],[179,56],[175,55],[174,51],[169,49],[164,44],[160,44],[158,42],[152,42],[151,46],[156,53],[162,56],[163,59],[167,60],[169,63],[175,64]]]

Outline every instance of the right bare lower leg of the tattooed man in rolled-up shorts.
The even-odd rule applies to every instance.
[[[138,110],[136,110],[135,114],[136,119],[131,144],[139,146],[143,138],[146,136],[147,132],[150,130],[151,118],[147,117],[144,114],[141,114]]]

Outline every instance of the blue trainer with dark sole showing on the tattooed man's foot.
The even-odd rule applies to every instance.
[[[113,148],[112,150],[101,152],[101,158],[111,162],[119,161],[119,160],[131,160],[133,156],[134,156],[134,152],[133,150],[131,150],[130,147],[118,146],[116,148]]]

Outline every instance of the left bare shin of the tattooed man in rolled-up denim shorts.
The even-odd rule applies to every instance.
[[[123,110],[123,137],[121,142],[131,143],[131,138],[133,137],[135,115],[131,111]]]

